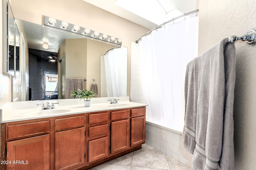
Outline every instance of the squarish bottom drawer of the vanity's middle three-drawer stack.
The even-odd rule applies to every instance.
[[[88,142],[88,162],[94,162],[108,156],[108,137],[102,137]]]

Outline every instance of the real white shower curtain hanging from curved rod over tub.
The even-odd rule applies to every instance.
[[[197,39],[195,14],[142,37],[141,77],[149,121],[182,131],[182,73],[197,56]]]

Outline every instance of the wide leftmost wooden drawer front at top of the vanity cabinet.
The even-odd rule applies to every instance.
[[[33,123],[22,123],[18,125],[8,125],[7,139],[46,133],[50,131],[50,121],[38,121]]]

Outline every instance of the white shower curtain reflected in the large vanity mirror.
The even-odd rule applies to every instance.
[[[108,51],[104,63],[108,97],[127,96],[127,48]]]

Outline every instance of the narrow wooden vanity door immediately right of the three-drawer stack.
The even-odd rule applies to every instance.
[[[111,154],[129,148],[130,123],[129,119],[111,123]]]

